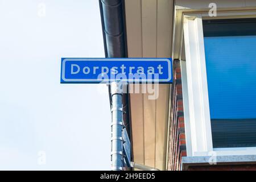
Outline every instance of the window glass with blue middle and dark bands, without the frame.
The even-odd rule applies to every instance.
[[[256,19],[203,20],[213,148],[256,147]]]

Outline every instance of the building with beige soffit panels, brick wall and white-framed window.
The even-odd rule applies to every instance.
[[[105,37],[106,52],[174,64],[173,84],[160,84],[155,100],[142,84],[123,101],[132,160],[161,170],[256,169],[256,1],[100,0],[101,10],[108,3],[123,33],[118,44]]]

